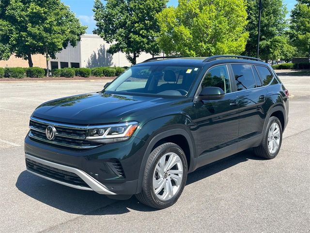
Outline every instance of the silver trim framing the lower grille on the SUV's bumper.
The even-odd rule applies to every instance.
[[[69,187],[73,187],[73,188],[78,188],[78,189],[83,189],[83,190],[93,190],[99,194],[106,194],[106,195],[115,195],[116,194],[116,193],[109,191],[105,185],[96,181],[93,177],[91,177],[90,175],[88,175],[87,173],[85,173],[84,171],[82,171],[80,169],[70,167],[70,166],[64,166],[61,164],[56,164],[56,163],[53,163],[53,162],[50,162],[50,161],[47,161],[44,159],[40,159],[40,158],[31,156],[30,154],[25,154],[25,159],[26,159],[26,164],[27,164],[27,171],[31,172],[34,175],[45,178],[49,181],[60,183],[60,184],[63,184],[63,185],[69,186]],[[35,163],[33,163],[33,162],[35,162]],[[29,164],[34,164],[34,166],[30,166]],[[42,166],[42,165],[45,165],[45,166]],[[34,168],[34,167],[36,167],[36,168]],[[44,171],[44,168],[42,169],[42,167],[45,167],[45,171]],[[62,171],[74,173],[80,179],[82,179],[87,184],[87,186],[61,181],[59,179],[60,176],[58,176],[58,179],[57,179],[56,178],[57,176],[53,175],[53,172],[48,172],[48,170],[50,171],[50,168],[56,168],[57,170],[55,171],[55,169],[54,169],[54,174],[56,172],[58,172],[58,173],[60,172],[60,174],[62,174],[63,177],[65,177],[66,175],[65,175],[65,173],[62,173]],[[64,180],[64,179],[62,179],[62,180]]]

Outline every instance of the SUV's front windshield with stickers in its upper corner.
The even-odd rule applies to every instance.
[[[114,94],[185,96],[199,71],[200,67],[193,66],[134,66],[109,84],[104,91]]]

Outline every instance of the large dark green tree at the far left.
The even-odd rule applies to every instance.
[[[61,0],[0,0],[2,59],[15,53],[32,67],[32,54],[55,58],[69,43],[76,46],[86,29]]]

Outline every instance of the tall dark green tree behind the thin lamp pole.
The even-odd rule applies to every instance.
[[[269,59],[271,50],[275,50],[273,42],[278,41],[276,36],[282,36],[286,32],[287,14],[286,6],[282,0],[263,0],[261,17],[261,34],[260,34],[260,57]],[[258,0],[248,0],[248,26],[249,32],[248,43],[245,54],[256,56],[257,51],[257,28],[258,28]]]

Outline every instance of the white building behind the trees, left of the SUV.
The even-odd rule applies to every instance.
[[[128,67],[130,62],[122,52],[111,55],[107,52],[110,44],[105,42],[100,36],[94,34],[84,34],[76,47],[69,45],[66,49],[56,54],[56,59],[50,59],[49,67]],[[151,54],[141,53],[137,58],[140,63]]]

